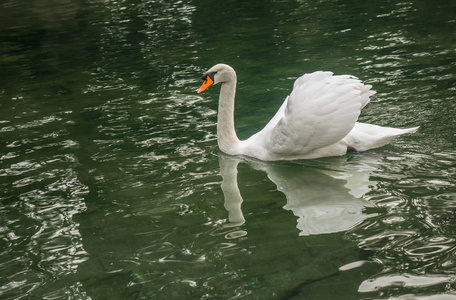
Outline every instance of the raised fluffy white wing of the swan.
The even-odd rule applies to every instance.
[[[273,155],[299,156],[340,141],[375,93],[370,88],[348,75],[303,75],[295,81],[281,114],[260,134],[264,147]]]

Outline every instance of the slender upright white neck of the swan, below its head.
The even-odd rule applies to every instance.
[[[230,74],[230,79],[220,87],[217,143],[223,152],[236,154],[235,148],[239,139],[234,129],[234,96],[236,94],[236,73]]]

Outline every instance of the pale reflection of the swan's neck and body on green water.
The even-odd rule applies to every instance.
[[[245,222],[241,210],[243,199],[237,184],[237,166],[240,161],[224,155],[219,159],[229,220],[225,226],[230,227]],[[253,168],[266,172],[277,189],[285,194],[287,203],[283,208],[298,217],[299,235],[345,231],[372,216],[363,211],[373,205],[360,198],[375,184],[369,181],[370,172],[376,169],[378,163],[372,157],[366,157],[356,164],[344,160],[344,165],[332,168],[338,171],[297,163],[248,162]],[[243,233],[238,234],[246,234]]]

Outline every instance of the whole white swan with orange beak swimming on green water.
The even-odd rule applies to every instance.
[[[356,122],[361,109],[375,92],[358,78],[332,72],[314,72],[299,77],[291,94],[275,116],[258,133],[240,141],[234,129],[236,72],[217,64],[203,74],[201,93],[221,83],[217,143],[230,155],[245,155],[263,161],[310,159],[365,151],[388,144],[418,127],[397,129]]]

